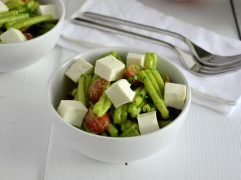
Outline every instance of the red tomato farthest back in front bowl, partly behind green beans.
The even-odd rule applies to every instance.
[[[142,70],[141,66],[131,64],[126,68],[126,79],[135,86],[140,85],[137,74]]]

